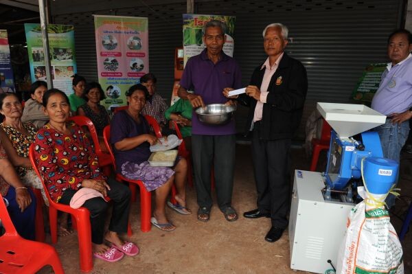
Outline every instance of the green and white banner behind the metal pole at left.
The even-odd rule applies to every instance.
[[[45,54],[43,35],[40,24],[24,24],[27,53],[30,62],[32,82],[46,81]],[[49,34],[49,53],[52,65],[53,87],[67,93],[73,93],[72,80],[77,72],[76,52],[74,50],[73,25],[47,25]]]

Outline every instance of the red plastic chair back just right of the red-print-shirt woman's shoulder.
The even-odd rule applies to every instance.
[[[95,146],[95,153],[98,155],[99,164],[103,169],[103,173],[106,176],[110,176],[111,174],[110,155],[108,155],[108,153],[102,152],[102,148],[100,148],[98,133],[96,131],[96,128],[93,122],[91,122],[91,119],[89,119],[86,116],[77,115],[77,116],[69,117],[69,120],[75,122],[78,126],[87,126],[87,128],[89,129],[89,133],[91,135],[91,139],[93,139],[93,144]]]

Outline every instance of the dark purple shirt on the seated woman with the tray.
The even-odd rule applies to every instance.
[[[137,124],[125,110],[113,115],[110,125],[110,143],[113,145],[113,152],[115,153],[117,172],[122,172],[122,165],[127,161],[142,163],[148,161],[150,157],[150,144],[147,141],[131,150],[122,151],[114,147],[115,143],[122,141],[124,138],[150,133],[148,122],[143,115],[140,115],[140,118],[142,123]]]

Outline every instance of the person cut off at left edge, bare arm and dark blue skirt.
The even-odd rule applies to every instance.
[[[5,198],[8,214],[19,235],[34,240],[36,199],[31,190],[23,185],[7,158],[0,142],[0,194]]]

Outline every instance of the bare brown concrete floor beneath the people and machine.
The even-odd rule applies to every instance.
[[[196,214],[183,216],[168,209],[170,220],[178,227],[175,231],[166,233],[152,227],[149,233],[142,233],[139,206],[135,203],[131,210],[133,236],[130,240],[139,245],[140,254],[134,258],[125,256],[112,264],[95,260],[92,273],[306,273],[289,267],[287,231],[279,241],[268,243],[264,236],[271,226],[270,220],[243,218],[243,212],[255,208],[256,198],[250,146],[238,145],[236,153],[233,207],[240,215],[239,220],[227,222],[216,204],[209,222],[198,221]],[[293,169],[308,170],[310,159],[306,159],[303,149],[293,149],[292,155]],[[406,155],[403,161],[406,164],[401,168],[404,174],[401,186],[412,179],[412,155]],[[319,170],[324,162],[320,161]],[[192,187],[187,190],[188,207],[196,213],[196,192]],[[412,196],[412,187],[408,191],[402,192],[404,201]],[[404,214],[405,207],[398,206],[398,215]],[[402,222],[393,218],[393,225],[399,231]],[[409,233],[403,243],[405,273],[412,273],[411,242],[412,233]],[[56,250],[66,273],[80,273],[76,233],[59,238]],[[41,273],[49,270],[43,269]]]

